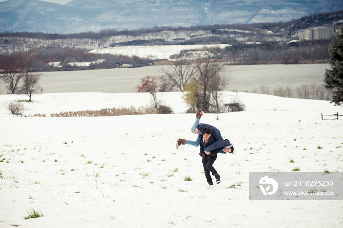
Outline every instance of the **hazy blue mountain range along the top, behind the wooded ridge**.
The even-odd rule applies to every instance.
[[[130,1],[132,2],[132,1]],[[0,32],[80,33],[154,26],[197,26],[289,21],[339,11],[343,0],[38,0],[0,2]]]

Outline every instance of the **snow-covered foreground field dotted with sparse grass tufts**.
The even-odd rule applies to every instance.
[[[343,227],[342,200],[249,200],[249,171],[343,171],[343,113],[328,101],[225,92],[246,112],[204,114],[236,154],[220,154],[208,186],[181,93],[159,94],[174,114],[25,118],[0,96],[0,227]],[[148,94],[33,96],[25,115],[150,104]],[[322,149],[319,149],[322,148]],[[294,163],[290,163],[290,160]],[[184,181],[189,176],[192,181]],[[231,187],[235,184],[235,187]],[[43,217],[27,219],[28,211]]]

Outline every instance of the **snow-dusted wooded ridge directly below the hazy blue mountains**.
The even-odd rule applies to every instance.
[[[44,34],[2,33],[0,53],[13,53],[29,47],[98,49],[114,46],[235,44],[245,42],[289,42],[303,29],[343,25],[343,11],[304,16],[285,23],[228,24],[194,27],[155,27],[141,30],[104,30],[99,33]]]

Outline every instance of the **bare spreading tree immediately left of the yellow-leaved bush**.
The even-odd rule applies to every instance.
[[[172,79],[180,91],[184,91],[184,85],[193,76],[194,70],[193,61],[181,55],[178,55],[176,60],[171,61],[168,68],[164,68],[163,65],[160,68],[160,72]]]

